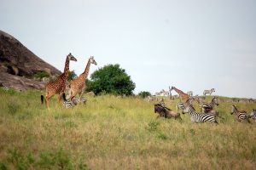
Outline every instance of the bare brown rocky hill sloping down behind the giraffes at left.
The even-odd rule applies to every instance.
[[[33,54],[15,37],[0,31],[0,86],[17,90],[44,88],[45,82],[35,78],[42,71],[49,73],[50,77],[61,74],[61,71]]]

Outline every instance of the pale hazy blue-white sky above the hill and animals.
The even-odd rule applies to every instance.
[[[119,64],[135,94],[256,98],[255,0],[0,0],[0,30],[60,71]]]

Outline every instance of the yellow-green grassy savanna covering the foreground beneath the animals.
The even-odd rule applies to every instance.
[[[253,169],[256,122],[235,122],[219,97],[219,125],[156,119],[154,102],[87,97],[86,105],[50,111],[40,92],[0,89],[0,169]],[[207,97],[209,101],[211,98]],[[166,100],[174,109],[177,100]],[[195,103],[195,108],[198,105]]]

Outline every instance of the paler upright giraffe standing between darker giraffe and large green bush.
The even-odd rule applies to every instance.
[[[82,74],[80,74],[80,76],[77,77],[76,79],[70,81],[68,97],[67,97],[68,100],[73,99],[74,96],[79,94],[80,101],[82,101],[84,90],[86,88],[85,79],[89,75],[90,64],[97,65],[96,60],[94,59],[93,56],[90,56],[90,58],[88,59],[87,65],[84,69],[84,72]]]

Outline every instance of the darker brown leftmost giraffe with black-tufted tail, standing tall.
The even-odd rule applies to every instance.
[[[59,77],[57,77],[54,82],[48,82],[45,85],[45,105],[47,106],[47,108],[49,108],[49,98],[51,98],[55,94],[59,94],[59,102],[61,101],[61,96],[64,93],[66,88],[66,81],[68,77],[70,60],[77,61],[77,59],[74,58],[71,53],[68,54],[65,62],[64,72]],[[41,95],[41,101],[43,104],[44,103],[43,95]]]

